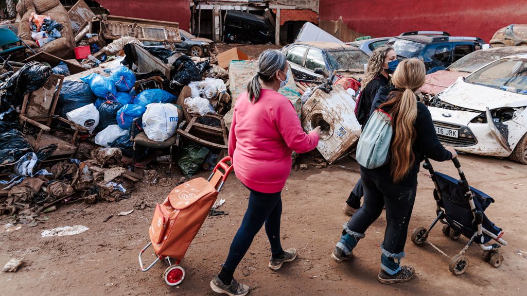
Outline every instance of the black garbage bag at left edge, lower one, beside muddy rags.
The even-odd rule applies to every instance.
[[[21,131],[11,129],[0,134],[0,166],[14,164],[27,152],[33,148]]]

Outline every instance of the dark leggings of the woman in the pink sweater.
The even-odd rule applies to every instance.
[[[250,188],[249,190],[251,193],[247,211],[243,216],[238,232],[232,240],[229,255],[223,265],[223,269],[231,274],[234,273],[241,259],[249,250],[252,240],[260,231],[264,222],[267,238],[271,244],[271,253],[277,255],[283,251],[280,244],[281,192],[261,193]]]

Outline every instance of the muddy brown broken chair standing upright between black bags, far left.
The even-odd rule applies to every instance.
[[[27,135],[27,141],[31,143],[35,151],[50,144],[58,145],[57,149],[51,154],[51,156],[55,156],[51,160],[57,160],[57,157],[58,159],[73,157],[77,151],[75,146],[77,135],[79,132],[87,131],[84,126],[54,114],[63,81],[64,76],[51,74],[44,86],[24,96],[22,108],[18,115],[22,124],[30,123],[40,129],[36,138],[32,135]],[[75,132],[70,142],[49,134],[53,119],[75,127]]]

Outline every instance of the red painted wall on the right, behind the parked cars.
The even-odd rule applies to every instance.
[[[372,37],[406,31],[446,31],[483,38],[510,24],[527,24],[524,0],[320,0],[319,19],[337,21]]]

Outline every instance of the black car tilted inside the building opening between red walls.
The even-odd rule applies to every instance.
[[[275,29],[268,18],[241,11],[227,11],[223,36],[226,43],[275,43]]]

